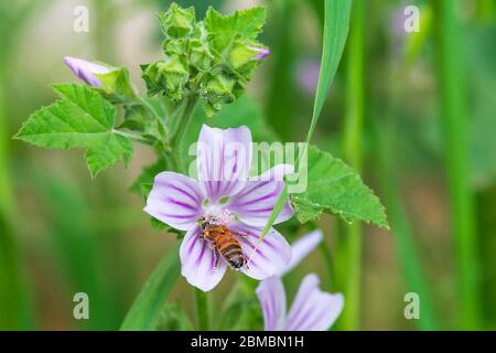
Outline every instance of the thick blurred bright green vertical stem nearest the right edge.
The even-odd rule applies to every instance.
[[[481,293],[477,275],[477,232],[474,199],[468,180],[468,138],[462,31],[455,14],[456,2],[436,1],[438,72],[440,74],[441,113],[444,136],[448,189],[451,205],[451,232],[457,255],[460,289],[460,328],[477,330],[481,319]]]

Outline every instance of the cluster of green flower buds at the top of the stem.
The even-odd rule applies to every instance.
[[[194,8],[173,3],[159,13],[164,58],[141,65],[148,94],[181,101],[188,94],[204,98],[213,115],[244,92],[254,69],[269,53],[257,42],[265,9],[254,8],[223,15],[209,8],[196,21]]]

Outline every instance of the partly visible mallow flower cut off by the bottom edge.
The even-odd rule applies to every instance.
[[[291,265],[280,276],[292,269],[303,257],[322,240],[322,233],[314,231],[293,244]],[[287,313],[285,291],[279,276],[265,279],[257,287],[266,331],[324,331],[327,330],[343,311],[342,293],[327,293],[319,288],[320,279],[315,274],[306,275],[300,285],[296,297]]]

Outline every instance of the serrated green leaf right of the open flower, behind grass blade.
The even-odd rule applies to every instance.
[[[330,212],[346,222],[359,220],[389,228],[379,199],[349,165],[313,146],[309,147],[308,165],[306,191],[291,195],[300,222]]]

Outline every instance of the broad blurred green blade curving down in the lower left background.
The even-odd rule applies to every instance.
[[[78,291],[89,296],[89,319],[75,323],[85,330],[118,329],[122,320],[120,288],[116,277],[101,276],[112,274],[116,257],[110,260],[106,250],[115,245],[108,242],[108,234],[95,229],[98,221],[93,217],[97,213],[63,179],[36,170],[30,173],[30,179],[51,211],[45,217],[53,228],[45,236],[54,247],[62,279],[68,286],[61,298],[69,302]]]

